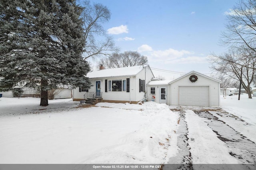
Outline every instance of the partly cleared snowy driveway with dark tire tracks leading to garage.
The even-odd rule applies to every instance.
[[[240,119],[239,117],[232,115],[232,113],[228,113],[221,108],[178,106],[171,108],[171,110],[178,112],[180,115],[180,120],[178,122],[180,127],[176,132],[176,134],[179,135],[178,147],[180,148],[180,151],[177,156],[170,158],[168,162],[169,164],[186,164],[186,168],[191,170],[196,169],[192,164],[209,163],[237,164],[236,167],[242,166],[238,164],[246,164],[240,168],[256,169],[256,143],[254,142],[254,139],[247,137],[250,135],[248,135],[249,133],[246,133],[247,131],[249,132],[249,130],[250,132],[253,131],[254,133],[255,126],[250,125],[250,123],[245,122],[243,119]],[[195,119],[191,120],[192,116],[195,117]],[[200,120],[201,123],[193,122],[196,119]],[[195,133],[192,132],[196,131],[195,129],[192,129],[194,124],[198,124],[199,130],[197,130],[198,134],[193,136]],[[200,129],[200,126],[203,129]],[[194,125],[194,127],[196,127],[196,125]],[[201,131],[206,129],[208,129],[208,132],[205,133],[206,135],[200,136],[200,134],[202,134]],[[239,129],[239,131],[237,129]],[[211,136],[210,134],[213,135]],[[200,144],[198,146],[195,145],[196,141],[199,143],[201,142],[202,146],[200,146]],[[214,143],[209,143],[208,141],[212,141]],[[218,149],[220,144],[222,145],[222,148],[220,147],[221,150],[227,150],[226,157],[224,157],[222,160],[224,161],[223,163],[218,161],[214,162],[214,160],[220,160],[220,158],[218,159],[216,156],[214,156],[214,151],[212,153],[209,152],[210,156],[207,155],[208,158],[212,159],[209,160],[209,162],[204,162],[202,157],[200,158],[200,150],[201,154],[203,155],[202,152],[204,152],[205,145],[207,150],[207,148],[212,146]],[[199,147],[198,152],[192,152],[192,150],[195,150],[195,148],[193,148],[195,146]],[[216,153],[218,152],[216,151]],[[219,156],[222,157],[223,153],[220,153]],[[234,163],[225,162],[225,158]],[[202,162],[200,162],[200,159]]]

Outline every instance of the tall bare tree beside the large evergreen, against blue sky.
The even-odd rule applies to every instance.
[[[112,37],[108,36],[102,23],[110,20],[110,11],[102,4],[90,4],[86,0],[82,3],[84,10],[82,18],[84,20],[85,41],[84,60],[94,56],[110,56],[113,52],[118,51],[114,46]],[[98,39],[98,41],[96,40]]]

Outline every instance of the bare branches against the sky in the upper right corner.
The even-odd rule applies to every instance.
[[[256,1],[240,0],[227,14],[227,19],[222,45],[256,51]]]

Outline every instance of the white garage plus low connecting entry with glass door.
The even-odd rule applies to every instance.
[[[220,83],[220,80],[191,71],[175,80],[149,82],[148,98],[175,106],[219,107]]]

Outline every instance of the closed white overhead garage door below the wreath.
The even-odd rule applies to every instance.
[[[209,86],[179,86],[179,105],[209,106]]]

